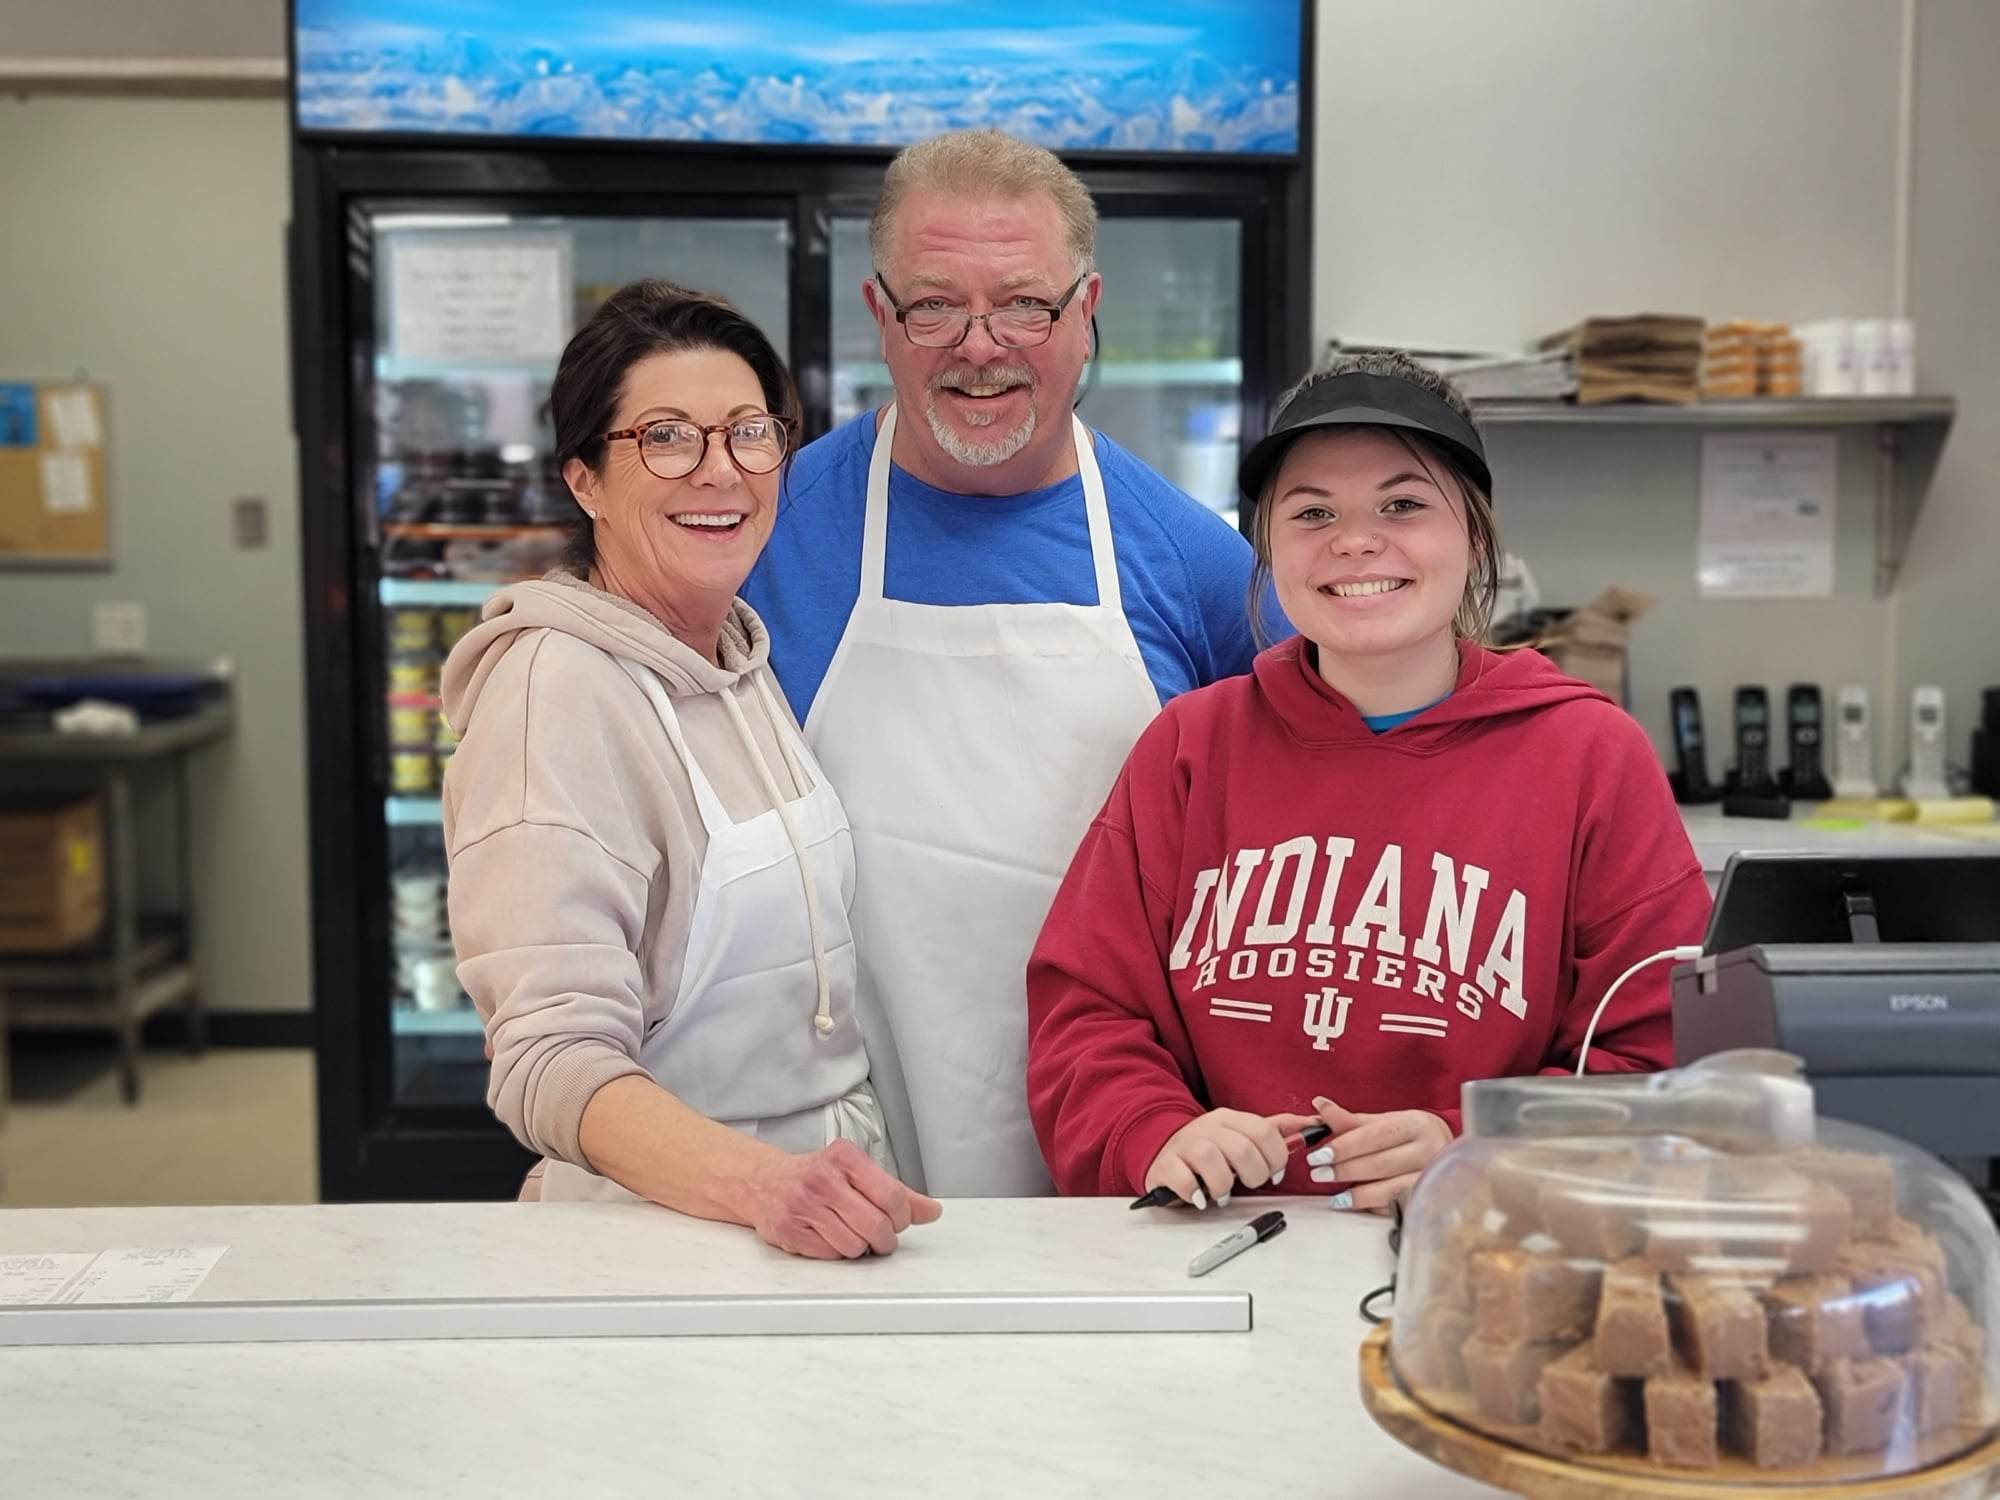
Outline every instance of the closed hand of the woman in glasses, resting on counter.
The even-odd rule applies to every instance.
[[[886,1256],[912,1224],[944,1212],[856,1146],[836,1140],[808,1156],[780,1156],[758,1172],[750,1228],[766,1244],[812,1260]]]

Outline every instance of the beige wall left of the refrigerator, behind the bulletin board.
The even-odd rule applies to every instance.
[[[110,572],[0,572],[0,650],[90,648],[92,604],[150,648],[228,656],[240,726],[204,760],[196,874],[216,1010],[306,1010],[298,502],[276,100],[0,102],[0,376],[84,370],[110,406]],[[230,502],[270,500],[270,544]]]

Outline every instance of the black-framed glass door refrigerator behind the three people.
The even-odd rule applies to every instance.
[[[1286,14],[1308,36],[1308,12]],[[548,386],[612,288],[664,276],[732,298],[790,360],[806,438],[886,400],[860,284],[894,142],[334,128],[312,114],[310,58],[296,76],[320,1190],[512,1196],[530,1158],[486,1108],[446,924],[440,664],[500,586],[560,562],[574,504]],[[1232,518],[1244,434],[1308,360],[1308,136],[1300,108],[1286,152],[1066,152],[1106,272],[1080,414]]]

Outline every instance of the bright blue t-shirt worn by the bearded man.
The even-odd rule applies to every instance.
[[[806,722],[860,594],[874,412],[800,450],[744,584],[770,664]],[[1160,702],[1250,670],[1250,544],[1104,434],[1118,590]],[[1014,496],[934,490],[892,466],[882,592],[910,604],[1096,604],[1084,482]]]

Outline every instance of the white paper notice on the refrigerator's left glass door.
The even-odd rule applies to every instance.
[[[390,346],[404,360],[554,360],[570,340],[566,238],[390,248]]]

